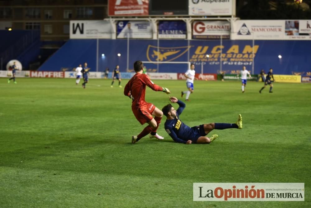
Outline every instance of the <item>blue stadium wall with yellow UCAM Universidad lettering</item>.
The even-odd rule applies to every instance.
[[[72,70],[79,64],[88,63],[91,71],[96,71],[96,40],[68,40],[40,68],[40,71]],[[221,44],[219,40],[160,40],[157,52],[157,40],[129,41],[129,69],[136,60],[143,61],[188,61],[195,63],[197,72],[201,72],[203,62],[204,73],[219,73],[220,61],[222,71],[234,73],[246,65],[248,70],[257,74],[261,69],[265,72],[274,69],[275,74],[293,74],[311,71],[311,41],[275,41],[256,40],[223,40],[222,60],[220,60]],[[252,52],[255,52],[254,62]],[[121,56],[118,57],[117,54]],[[101,54],[104,54],[102,56]],[[207,59],[206,54],[210,57]],[[115,65],[126,71],[127,40],[99,40],[98,71],[106,67],[112,71]],[[279,59],[278,55],[282,58]],[[156,69],[156,64],[145,64],[148,69]],[[159,72],[182,73],[185,64],[160,64]]]

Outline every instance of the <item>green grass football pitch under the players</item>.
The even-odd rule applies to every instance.
[[[211,144],[145,137],[118,82],[0,79],[0,207],[311,207],[311,84],[195,81],[180,116],[213,130]],[[128,80],[123,80],[124,86]],[[180,98],[183,80],[153,80]],[[168,95],[146,91],[162,109]],[[177,108],[177,104],[174,107]],[[304,182],[304,202],[196,202],[193,182]]]

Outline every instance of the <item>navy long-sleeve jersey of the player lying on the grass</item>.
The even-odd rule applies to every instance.
[[[176,118],[171,120],[166,120],[164,127],[166,132],[172,137],[175,142],[186,144],[188,140],[193,137],[193,129],[184,124],[180,119],[179,115],[183,112],[186,104],[178,100],[177,104],[179,108],[176,111]]]

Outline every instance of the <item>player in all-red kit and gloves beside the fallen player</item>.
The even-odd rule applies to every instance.
[[[152,103],[145,101],[146,86],[154,91],[162,91],[166,94],[171,93],[166,87],[160,87],[153,83],[146,74],[142,73],[143,69],[144,64],[142,61],[135,61],[134,70],[136,73],[124,87],[124,95],[132,98],[132,111],[137,121],[141,125],[149,124],[139,135],[132,136],[132,144],[148,134],[151,134],[150,138],[164,139],[164,137],[156,133],[161,123],[163,112]],[[152,115],[155,117],[153,118]]]

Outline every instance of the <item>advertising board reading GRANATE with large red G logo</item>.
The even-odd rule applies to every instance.
[[[230,38],[230,22],[228,21],[194,21],[193,38],[196,39],[224,39]]]

